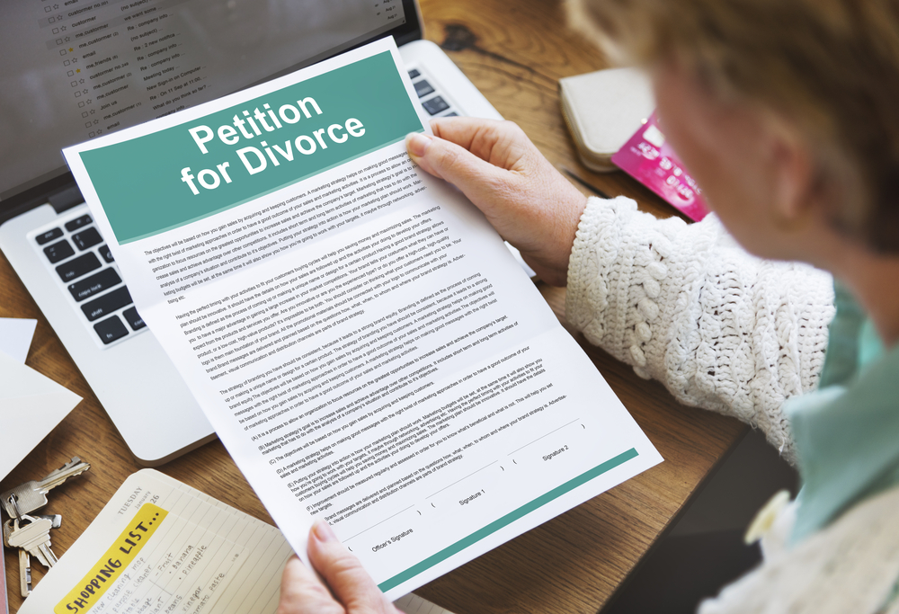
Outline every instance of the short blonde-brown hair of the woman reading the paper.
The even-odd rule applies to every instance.
[[[899,0],[568,0],[619,63],[674,61],[806,138],[834,223],[899,253]]]

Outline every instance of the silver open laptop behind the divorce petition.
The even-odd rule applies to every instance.
[[[60,150],[393,36],[432,117],[502,119],[422,40],[417,0],[8,0],[0,251],[138,463],[215,438],[147,329]]]

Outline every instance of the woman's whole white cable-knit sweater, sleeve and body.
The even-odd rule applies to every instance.
[[[565,309],[638,375],[685,405],[761,429],[795,464],[781,407],[817,385],[834,314],[830,275],[746,254],[714,215],[688,226],[641,213],[633,200],[594,198],[574,240]],[[897,509],[899,489],[788,548],[788,507],[763,540],[761,567],[700,612],[899,614],[899,602],[883,607],[899,577]]]

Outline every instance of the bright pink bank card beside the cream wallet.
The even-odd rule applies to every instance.
[[[699,221],[708,214],[702,191],[666,142],[655,112],[612,162],[689,218]]]

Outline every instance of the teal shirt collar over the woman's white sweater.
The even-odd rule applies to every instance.
[[[883,351],[848,292],[835,290],[821,387],[784,405],[803,481],[793,543],[899,485],[899,346]]]

